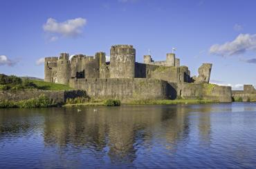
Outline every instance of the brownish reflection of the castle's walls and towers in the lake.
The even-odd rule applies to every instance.
[[[52,109],[44,117],[44,142],[46,146],[82,146],[104,151],[111,161],[136,159],[136,141],[149,146],[152,139],[166,139],[176,143],[188,133],[185,109],[147,107]],[[138,113],[138,111],[140,113]],[[75,115],[74,115],[75,113]],[[152,130],[158,128],[159,130]],[[160,134],[160,135],[159,135]],[[151,147],[148,147],[150,150]]]

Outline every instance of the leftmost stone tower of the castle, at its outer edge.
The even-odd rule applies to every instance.
[[[57,72],[57,57],[46,57],[44,59],[44,81],[54,82],[53,76]]]

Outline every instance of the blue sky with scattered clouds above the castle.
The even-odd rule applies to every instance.
[[[197,75],[213,63],[211,81],[256,85],[256,1],[0,0],[0,72],[44,77],[40,58],[60,52],[93,55],[132,44],[136,61],[176,48]]]

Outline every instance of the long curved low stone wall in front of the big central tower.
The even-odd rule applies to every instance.
[[[158,79],[71,79],[69,85],[95,99],[167,99],[171,95],[170,85]]]

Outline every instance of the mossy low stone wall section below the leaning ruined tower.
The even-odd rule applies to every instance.
[[[208,99],[218,102],[231,102],[231,87],[218,86],[211,83],[178,83],[177,96],[183,99]]]

